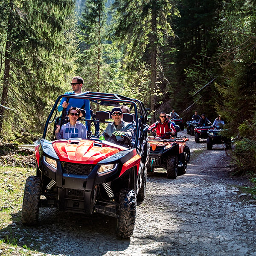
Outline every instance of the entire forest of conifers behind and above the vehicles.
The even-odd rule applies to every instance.
[[[71,90],[140,99],[148,124],[175,109],[221,114],[239,172],[256,171],[253,0],[2,0],[0,140],[41,136]]]

